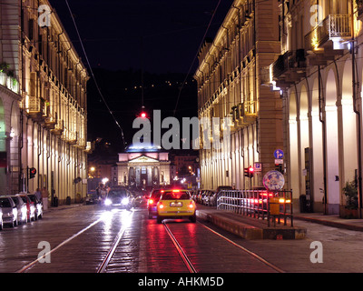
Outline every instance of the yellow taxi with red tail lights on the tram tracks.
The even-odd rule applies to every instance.
[[[196,222],[195,203],[188,190],[165,189],[157,204],[158,224],[165,218],[189,218]]]

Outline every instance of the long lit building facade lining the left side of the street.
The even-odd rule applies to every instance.
[[[81,58],[47,0],[5,0],[0,15],[0,194],[46,188],[61,203],[85,196],[89,76]]]

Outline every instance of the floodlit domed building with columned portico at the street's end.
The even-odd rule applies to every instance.
[[[161,186],[170,184],[171,161],[161,146],[138,143],[127,146],[117,162],[121,186]]]

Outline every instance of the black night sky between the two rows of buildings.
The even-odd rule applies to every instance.
[[[50,3],[83,64],[88,67],[65,0],[50,0]],[[192,62],[219,0],[68,0],[68,3],[97,84],[123,127],[127,143],[131,142],[130,126],[141,108],[142,93],[139,90],[130,95],[130,89],[126,91],[126,88],[140,87],[142,71],[145,107],[151,113],[153,109],[161,109],[163,115],[172,116],[180,85],[191,68],[189,87],[185,86],[185,92],[184,88],[182,90],[177,115],[197,115],[196,85],[191,86],[191,79],[198,59]],[[215,36],[232,3],[233,0],[221,0],[207,37]],[[110,77],[110,72],[115,74]],[[117,79],[119,76],[122,80]],[[161,86],[169,80],[173,84],[169,87],[171,91],[166,91]],[[152,85],[153,88],[157,85],[159,91],[150,90]],[[109,138],[107,132],[114,130],[113,137],[117,137],[113,141],[120,148],[120,130],[95,90],[92,79],[88,99],[89,136]],[[185,103],[189,105],[185,106]],[[104,118],[100,119],[100,115]],[[108,130],[104,131],[104,126]]]

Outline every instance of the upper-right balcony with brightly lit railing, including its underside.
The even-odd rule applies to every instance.
[[[328,15],[305,35],[309,65],[327,65],[343,55],[351,37],[351,15]]]

